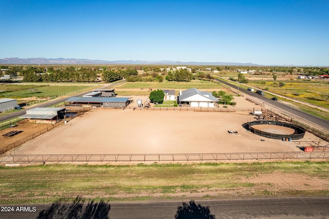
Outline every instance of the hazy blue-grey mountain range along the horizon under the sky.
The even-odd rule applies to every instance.
[[[259,66],[253,63],[237,63],[237,62],[179,62],[179,61],[141,61],[141,60],[90,60],[90,59],[47,59],[47,58],[5,58],[0,59],[0,64],[33,64],[33,65],[239,65],[239,66]]]

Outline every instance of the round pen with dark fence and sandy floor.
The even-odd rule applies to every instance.
[[[256,120],[244,123],[243,126],[250,132],[266,138],[298,140],[305,135],[302,127],[287,122]]]

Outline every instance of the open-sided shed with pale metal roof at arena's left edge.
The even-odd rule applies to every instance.
[[[25,115],[19,118],[28,119],[35,122],[54,123],[64,119],[66,115],[65,107],[36,107],[28,109]]]

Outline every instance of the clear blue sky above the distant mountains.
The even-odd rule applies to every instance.
[[[0,1],[0,58],[329,66],[329,0]]]

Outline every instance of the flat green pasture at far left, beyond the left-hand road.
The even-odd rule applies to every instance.
[[[76,90],[87,87],[88,86],[0,85],[0,90],[5,90],[5,92],[0,93],[0,98],[47,98],[51,96],[63,95],[69,92],[75,92]]]

